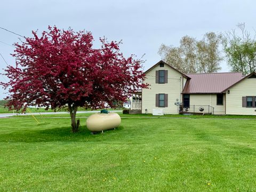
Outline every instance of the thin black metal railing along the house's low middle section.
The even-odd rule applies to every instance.
[[[214,115],[214,107],[210,105],[190,105],[189,107],[183,107],[181,110],[183,113],[202,113],[202,114],[212,114]]]

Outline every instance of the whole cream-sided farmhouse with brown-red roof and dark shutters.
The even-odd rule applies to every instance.
[[[159,61],[145,74],[143,83],[150,86],[132,100],[132,109],[143,114],[161,109],[164,114],[256,115],[255,72],[183,74]]]

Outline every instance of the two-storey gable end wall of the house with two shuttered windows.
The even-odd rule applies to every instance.
[[[164,76],[167,78],[164,83],[157,82],[157,71],[160,70],[164,70],[167,73],[167,77],[166,75]],[[148,69],[145,75],[146,78],[143,83],[148,83],[149,87],[148,89],[142,89],[142,113],[145,113],[146,109],[148,113],[153,113],[153,109],[163,109],[166,114],[178,114],[179,111],[174,102],[177,102],[177,99],[179,101],[182,100],[182,83],[186,82],[183,81],[183,78],[186,78],[186,76],[163,61],[159,61]],[[162,105],[161,98],[164,100]]]

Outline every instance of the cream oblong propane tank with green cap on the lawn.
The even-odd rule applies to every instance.
[[[114,129],[121,124],[121,118],[117,113],[93,114],[86,120],[87,129],[91,132],[100,132]]]

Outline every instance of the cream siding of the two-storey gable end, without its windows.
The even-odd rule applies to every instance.
[[[168,83],[156,84],[156,70],[168,70]],[[142,90],[142,113],[145,113],[145,109],[149,114],[153,113],[153,109],[163,109],[165,114],[179,114],[179,108],[174,105],[176,99],[182,101],[180,94],[183,90],[182,75],[178,71],[168,65],[164,67],[158,65],[147,72],[143,83],[148,83],[150,86],[149,89]],[[159,93],[168,94],[168,107],[155,107],[156,94]]]

